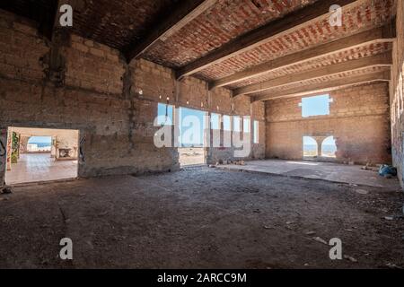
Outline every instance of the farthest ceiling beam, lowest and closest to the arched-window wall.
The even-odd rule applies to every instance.
[[[291,98],[312,94],[314,92],[332,91],[342,89],[360,83],[386,82],[390,81],[391,72],[376,72],[369,74],[361,74],[353,77],[344,77],[337,80],[332,80],[326,83],[312,83],[306,86],[278,91],[276,93],[268,93],[268,95],[256,96],[253,101],[259,100],[274,100],[279,98]]]

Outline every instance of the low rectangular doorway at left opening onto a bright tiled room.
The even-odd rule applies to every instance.
[[[77,178],[78,130],[8,127],[5,183]]]

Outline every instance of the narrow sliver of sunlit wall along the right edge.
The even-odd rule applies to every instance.
[[[393,164],[399,170],[401,186],[403,185],[403,131],[404,118],[404,3],[397,1],[397,40],[393,47],[393,66],[391,69],[391,141]]]

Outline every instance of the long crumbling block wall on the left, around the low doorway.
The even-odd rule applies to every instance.
[[[83,178],[179,168],[175,148],[154,146],[161,95],[194,109],[250,112],[247,98],[231,109],[224,89],[175,81],[171,69],[145,60],[127,65],[118,50],[75,35],[50,42],[36,23],[2,10],[0,62],[0,140],[7,126],[78,129]],[[0,157],[0,184],[4,164]]]

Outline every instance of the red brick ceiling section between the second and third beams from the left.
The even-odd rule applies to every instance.
[[[144,57],[171,67],[186,65],[249,30],[314,2],[316,0],[218,0],[171,38],[148,50]]]

